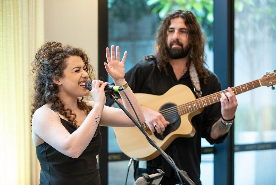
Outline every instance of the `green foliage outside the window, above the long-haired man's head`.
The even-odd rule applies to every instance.
[[[162,20],[168,12],[176,9],[192,11],[206,35],[207,45],[210,50],[213,48],[213,0],[109,0],[108,7],[114,16],[126,22],[156,13]]]

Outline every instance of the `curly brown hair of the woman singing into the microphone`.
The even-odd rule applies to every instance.
[[[65,109],[64,102],[58,96],[58,85],[53,82],[54,78],[63,77],[63,71],[67,65],[66,59],[70,56],[80,56],[87,68],[89,79],[95,79],[93,66],[89,64],[89,58],[82,49],[70,45],[62,47],[60,42],[43,44],[35,54],[35,60],[32,63],[31,75],[34,80],[34,94],[31,104],[31,123],[34,112],[44,104],[49,103],[52,110],[65,116],[70,123],[78,128],[77,115],[72,113],[70,108]],[[87,99],[88,96],[86,96]],[[85,110],[88,114],[92,107],[82,101],[83,99],[84,97],[77,98],[77,107]]]

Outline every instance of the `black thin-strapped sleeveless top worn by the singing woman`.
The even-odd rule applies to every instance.
[[[61,123],[72,134],[77,128],[61,119]],[[66,156],[48,143],[36,146],[40,163],[40,185],[50,184],[93,184],[100,185],[99,164],[96,156],[102,144],[99,126],[87,148],[78,158]]]

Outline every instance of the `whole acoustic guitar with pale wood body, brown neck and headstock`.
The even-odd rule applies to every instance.
[[[237,95],[260,86],[272,86],[274,89],[275,83],[276,70],[270,74],[268,72],[260,79],[231,89]],[[193,116],[201,113],[205,107],[220,102],[220,94],[227,91],[226,89],[196,99],[189,87],[176,85],[160,96],[145,93],[135,93],[135,96],[141,105],[159,111],[170,123],[162,134],[152,132],[145,123],[142,124],[157,145],[165,150],[178,137],[193,137],[195,134],[191,124]],[[114,132],[119,147],[127,156],[148,161],[160,155],[137,127],[114,127]]]

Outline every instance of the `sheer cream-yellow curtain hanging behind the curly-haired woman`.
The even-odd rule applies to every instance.
[[[29,70],[44,42],[43,0],[0,1],[0,184],[38,184]]]

